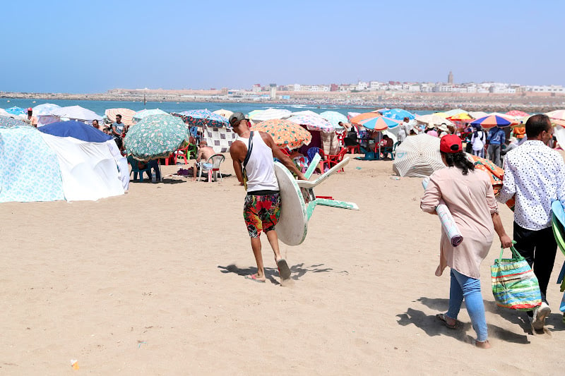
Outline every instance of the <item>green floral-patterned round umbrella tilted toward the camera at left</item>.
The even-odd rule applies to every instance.
[[[129,128],[124,145],[128,154],[147,161],[168,157],[188,138],[189,128],[179,117],[152,115]]]

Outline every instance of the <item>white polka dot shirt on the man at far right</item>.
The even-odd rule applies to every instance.
[[[552,201],[565,203],[565,163],[542,141],[527,140],[504,157],[503,186],[496,200],[516,193],[514,222],[528,230],[551,226]]]

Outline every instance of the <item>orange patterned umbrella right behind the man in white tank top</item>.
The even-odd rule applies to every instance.
[[[251,131],[268,133],[278,147],[296,149],[302,145],[308,145],[312,140],[312,135],[297,123],[283,119],[270,119],[261,121],[251,126]]]

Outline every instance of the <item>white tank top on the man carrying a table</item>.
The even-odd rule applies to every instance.
[[[249,145],[249,138],[237,136],[236,140],[243,142],[246,148]],[[278,190],[273,150],[268,147],[258,132],[253,133],[253,150],[251,150],[245,171],[247,173],[247,192]]]

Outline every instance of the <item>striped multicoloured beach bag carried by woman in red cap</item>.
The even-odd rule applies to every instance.
[[[513,310],[532,310],[542,304],[540,284],[524,257],[513,246],[512,258],[500,257],[490,267],[492,294],[496,305]]]

